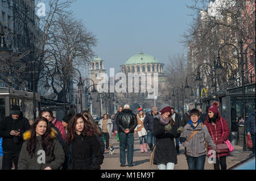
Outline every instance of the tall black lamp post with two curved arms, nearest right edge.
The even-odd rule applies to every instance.
[[[220,65],[221,63],[220,63],[220,50],[222,49],[222,48],[224,48],[225,46],[227,46],[227,45],[230,45],[230,46],[232,46],[232,47],[234,47],[234,48],[236,48],[236,50],[237,50],[237,62],[238,62],[238,65],[241,65],[241,74],[242,74],[242,99],[243,99],[243,112],[242,112],[242,117],[243,117],[243,119],[245,120],[245,124],[244,125],[246,125],[246,107],[245,107],[245,80],[244,80],[244,69],[243,69],[243,66],[247,63],[247,62],[244,62],[243,61],[243,54],[245,54],[245,60],[247,61],[247,50],[248,50],[248,48],[251,46],[251,45],[253,45],[253,44],[255,44],[255,42],[253,42],[253,43],[250,43],[249,45],[247,45],[247,47],[245,48],[245,52],[243,52],[243,41],[242,41],[242,39],[240,40],[240,51],[238,50],[238,48],[239,47],[236,47],[235,45],[233,45],[233,44],[230,44],[230,43],[228,43],[228,44],[224,44],[224,45],[222,45],[222,47],[220,47],[220,49],[218,49],[218,62],[217,62],[217,64],[218,65]],[[241,61],[240,61],[240,57],[241,56]],[[246,128],[245,127],[243,127],[243,151],[246,151],[247,150],[247,147],[246,147]]]

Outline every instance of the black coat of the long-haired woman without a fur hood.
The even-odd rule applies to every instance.
[[[70,159],[68,170],[101,169],[104,155],[96,136],[83,137],[82,134],[76,134],[75,138],[71,141],[71,155],[69,149],[70,146],[66,142],[64,146],[65,158],[66,161]]]

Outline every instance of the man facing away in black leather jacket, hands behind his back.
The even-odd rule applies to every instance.
[[[122,112],[117,115],[121,167],[125,166],[126,146],[128,166],[133,166],[134,129],[137,127],[137,124],[136,115],[130,110],[130,106],[126,104]]]

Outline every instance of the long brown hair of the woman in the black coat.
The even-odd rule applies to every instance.
[[[75,138],[76,136],[76,123],[77,119],[81,118],[84,121],[84,129],[82,130],[82,136],[84,137],[90,137],[93,136],[93,127],[92,124],[89,123],[89,121],[86,121],[84,116],[82,116],[80,113],[76,113],[72,116],[68,123],[68,129],[67,129],[67,142],[68,144]]]

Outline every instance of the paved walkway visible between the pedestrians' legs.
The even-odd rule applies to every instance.
[[[119,142],[116,137],[110,138],[110,143],[114,144],[114,154],[109,154],[105,151],[104,161],[101,165],[101,170],[158,170],[156,165],[150,166],[150,149],[148,148],[147,153],[141,153],[139,148],[139,137],[134,136],[134,156],[133,163],[135,166],[128,167],[127,159],[126,166],[120,167],[119,162]],[[242,146],[234,145],[234,151],[226,158],[227,168],[229,169],[233,165],[249,158],[251,151],[243,151]],[[188,170],[187,160],[185,158],[184,146],[180,146],[181,154],[177,155],[177,164],[175,165],[175,170]],[[126,153],[127,158],[127,153]],[[209,164],[208,160],[205,160],[205,170],[213,170],[213,164]]]

